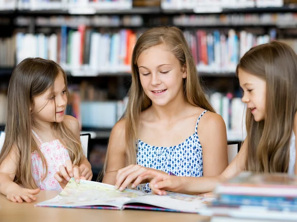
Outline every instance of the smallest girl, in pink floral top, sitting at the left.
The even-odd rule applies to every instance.
[[[14,69],[0,153],[7,199],[31,202],[40,189],[61,190],[70,177],[92,179],[78,121],[64,115],[68,95],[66,74],[51,60],[27,58]]]

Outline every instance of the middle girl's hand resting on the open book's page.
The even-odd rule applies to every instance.
[[[144,172],[147,171],[156,171],[160,174],[165,174],[167,175],[165,172],[163,171],[159,171],[159,170],[154,170],[151,168],[147,168],[147,167],[143,167],[141,165],[129,165],[127,167],[124,167],[120,170],[118,170],[117,174],[116,174],[116,181],[115,181],[115,188],[119,189],[119,190],[123,190],[125,189],[129,184],[131,184],[132,182],[132,188],[134,188],[135,186],[142,184],[142,183],[147,183],[147,180],[149,179],[149,177],[146,177],[145,179],[139,177],[141,174],[143,174]],[[149,182],[149,180],[148,180]]]

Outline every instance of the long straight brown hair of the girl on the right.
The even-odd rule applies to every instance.
[[[239,69],[266,81],[265,119],[256,122],[246,114],[246,170],[288,172],[290,140],[297,111],[297,55],[282,42],[251,48]]]

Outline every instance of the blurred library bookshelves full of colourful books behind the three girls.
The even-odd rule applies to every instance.
[[[202,83],[207,87],[206,94],[227,122],[229,142],[245,138],[244,107],[234,73],[240,56],[252,45],[273,39],[287,41],[297,51],[297,6],[293,1],[230,0],[227,4],[227,0],[138,0],[140,6],[135,2],[0,0],[0,52],[7,52],[5,56],[0,53],[0,94],[5,94],[13,67],[23,58],[39,56],[57,61],[68,74],[71,95],[80,101],[71,104],[70,113],[78,117],[82,133],[91,133],[95,179],[110,130],[124,111],[131,82],[129,48],[121,47],[121,37],[131,38],[131,50],[137,37],[152,26],[174,25],[183,29]],[[201,39],[206,45],[201,45]],[[44,47],[44,43],[50,47]],[[108,45],[107,49],[104,45]],[[92,51],[93,48],[99,50]],[[115,52],[120,55],[116,59],[110,56]],[[102,55],[109,56],[106,59]],[[97,119],[100,115],[93,116],[88,109],[100,103],[108,103],[114,112],[103,125],[91,124],[75,112],[77,107],[85,106],[81,112]],[[230,115],[230,111],[240,114]]]

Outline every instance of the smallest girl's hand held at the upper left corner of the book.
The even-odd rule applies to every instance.
[[[76,183],[79,183],[80,179],[86,180],[86,178],[82,176],[79,166],[72,165],[71,160],[66,160],[65,165],[66,167],[63,165],[59,166],[59,171],[54,175],[54,179],[59,182],[62,188],[67,185],[71,177],[74,177]]]

